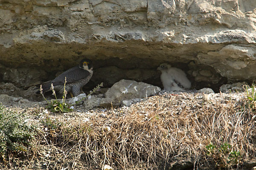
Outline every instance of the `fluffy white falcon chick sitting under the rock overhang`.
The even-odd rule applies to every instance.
[[[186,91],[191,87],[191,82],[184,71],[174,68],[167,63],[161,64],[157,70],[162,72],[161,81],[166,91]]]

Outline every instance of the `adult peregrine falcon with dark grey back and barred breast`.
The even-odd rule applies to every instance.
[[[65,90],[67,92],[72,92],[71,97],[78,96],[80,94],[81,88],[89,82],[93,75],[93,64],[90,59],[82,59],[79,65],[63,72],[61,75],[53,80],[44,82],[42,85],[43,93],[50,91],[51,84],[53,84],[54,89],[59,91],[59,93],[64,92],[64,82],[65,77],[67,78]]]

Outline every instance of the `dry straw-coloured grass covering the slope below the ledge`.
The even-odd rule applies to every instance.
[[[256,157],[256,116],[244,102],[243,94],[163,94],[112,108],[103,118],[103,111],[44,114],[30,164],[36,167],[37,160],[42,169],[58,170],[105,164],[120,170],[178,164],[222,168],[222,158],[207,155],[206,146],[224,143],[240,152],[241,163]],[[107,126],[110,131],[104,130]]]

